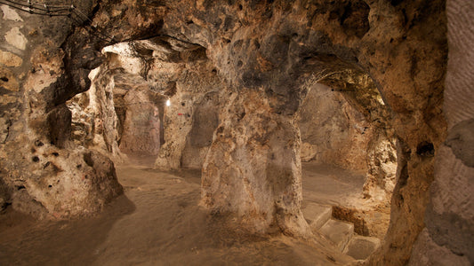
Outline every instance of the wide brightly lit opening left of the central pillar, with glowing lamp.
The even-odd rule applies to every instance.
[[[157,36],[101,52],[91,89],[68,102],[72,138],[116,162],[200,169],[219,124],[222,86],[205,48]]]

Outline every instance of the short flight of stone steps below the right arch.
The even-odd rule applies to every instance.
[[[355,234],[353,223],[333,219],[331,206],[308,202],[301,211],[312,231],[356,260],[366,260],[381,245],[380,239]]]

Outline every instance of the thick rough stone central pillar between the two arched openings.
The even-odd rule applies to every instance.
[[[291,117],[271,113],[264,95],[229,95],[227,119],[216,129],[203,166],[202,204],[213,213],[237,215],[250,231],[277,226],[308,237],[300,210],[300,142],[294,138],[299,130]]]

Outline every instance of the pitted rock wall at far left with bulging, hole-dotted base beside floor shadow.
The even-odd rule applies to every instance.
[[[77,4],[85,13],[92,7],[92,1]],[[4,4],[1,12],[2,207],[50,219],[97,213],[122,186],[108,156],[70,141],[65,101],[89,89],[87,74],[100,56],[83,45],[87,37],[63,46],[75,27],[66,17]]]

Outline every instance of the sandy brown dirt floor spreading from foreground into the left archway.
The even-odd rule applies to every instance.
[[[12,210],[0,215],[0,265],[351,262],[348,256],[333,251],[332,246],[325,246],[325,240],[317,237],[309,243],[283,235],[249,235],[223,226],[198,206],[199,171],[164,173],[144,166],[122,165],[116,167],[116,173],[125,195],[111,202],[98,216],[35,222]],[[310,190],[305,190],[305,197],[317,199]]]

